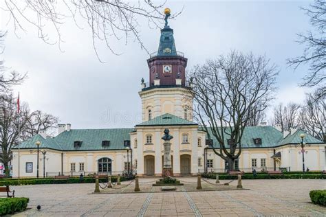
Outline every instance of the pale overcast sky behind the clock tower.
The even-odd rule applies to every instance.
[[[188,58],[188,69],[231,49],[265,54],[281,70],[279,91],[272,103],[277,104],[301,103],[305,98],[307,89],[298,87],[298,82],[307,68],[293,71],[285,62],[302,52],[303,47],[295,42],[296,33],[312,29],[300,9],[309,3],[312,1],[168,1],[166,5],[172,13],[184,7],[169,25],[174,29],[177,50]],[[124,45],[124,41],[112,40],[120,56],[99,45],[106,61],[100,63],[86,25],[80,30],[74,23],[65,23],[61,52],[58,46],[41,41],[30,28],[17,38],[12,25],[5,23],[7,14],[0,13],[1,30],[8,30],[1,59],[6,67],[28,72],[28,80],[14,91],[20,91],[21,100],[32,110],[52,113],[72,128],[133,127],[141,121],[138,91],[141,78],[149,79],[149,55],[138,43],[130,40]],[[149,28],[146,22],[140,24],[146,49],[157,51],[160,30]]]

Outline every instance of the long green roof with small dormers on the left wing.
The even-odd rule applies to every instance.
[[[54,150],[119,150],[124,149],[124,140],[130,140],[129,133],[133,130],[133,128],[72,129],[64,131],[54,138],[47,137],[44,139],[40,135],[35,135],[23,141],[19,147],[36,148],[35,142],[41,141],[40,148],[52,148]],[[103,140],[110,141],[108,147],[102,147]],[[74,148],[74,141],[82,141],[80,148]]]

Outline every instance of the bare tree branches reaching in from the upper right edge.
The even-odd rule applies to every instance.
[[[294,69],[300,65],[309,65],[309,73],[305,76],[302,86],[318,86],[318,95],[326,95],[326,1],[315,0],[310,8],[303,8],[309,16],[310,23],[315,27],[314,32],[298,34],[298,43],[305,45],[303,54],[296,58],[287,60]]]

